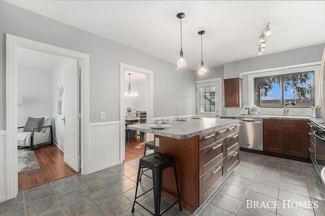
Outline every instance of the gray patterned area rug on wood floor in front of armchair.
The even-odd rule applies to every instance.
[[[34,151],[18,149],[18,175],[41,170]]]

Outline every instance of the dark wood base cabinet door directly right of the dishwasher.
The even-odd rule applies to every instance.
[[[264,120],[263,131],[263,148],[264,151],[283,154],[283,120]]]

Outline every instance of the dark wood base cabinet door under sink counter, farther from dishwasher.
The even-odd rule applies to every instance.
[[[305,121],[287,120],[284,126],[284,154],[308,158],[308,131]]]

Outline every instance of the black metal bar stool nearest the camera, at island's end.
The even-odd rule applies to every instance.
[[[153,188],[151,188],[150,190],[148,190],[148,191],[144,192],[143,194],[137,196],[138,186],[139,186],[139,179],[140,179],[140,175],[141,175],[141,168],[143,168],[143,167],[146,167],[146,168],[152,170]],[[176,197],[178,199],[176,200],[176,202],[171,204],[166,210],[164,210],[163,213],[165,213],[167,210],[169,210],[177,202],[179,202],[179,210],[180,211],[182,210],[182,205],[181,205],[181,200],[180,200],[180,195],[179,195],[179,189],[178,189],[178,179],[177,179],[175,158],[170,156],[170,155],[167,155],[167,154],[155,152],[155,153],[152,153],[152,154],[149,154],[147,156],[143,156],[142,158],[140,158],[139,169],[138,169],[138,178],[137,178],[136,195],[135,195],[133,206],[132,206],[132,213],[134,212],[134,205],[135,205],[135,203],[137,203],[138,205],[140,205],[141,207],[146,209],[148,212],[150,212],[154,216],[160,216],[160,215],[163,214],[163,213],[160,214],[160,199],[161,199],[161,189],[162,189],[161,188],[161,182],[162,182],[162,178],[163,178],[163,170],[168,168],[168,167],[173,167],[174,168],[174,175],[175,175],[176,189],[177,189],[177,196]],[[137,198],[139,198],[142,195],[148,193],[152,189],[153,189],[153,197],[154,197],[154,213],[151,212],[149,209],[147,209],[145,206],[143,206],[142,204],[140,204],[137,201]]]

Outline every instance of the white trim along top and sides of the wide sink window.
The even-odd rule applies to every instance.
[[[314,89],[315,89],[315,104],[319,104],[319,92],[316,91],[319,89],[319,83],[316,80],[316,77],[319,77],[319,70],[320,70],[320,64],[314,64],[312,63],[312,66],[310,64],[306,64],[307,66],[304,66],[305,64],[300,65],[301,67],[281,67],[279,69],[274,70],[267,70],[263,72],[256,72],[256,73],[246,73],[248,74],[248,106],[253,105],[254,100],[254,78],[256,77],[263,77],[263,76],[272,76],[275,75],[281,75],[281,74],[289,74],[289,73],[299,73],[299,72],[305,72],[305,71],[314,71]],[[276,108],[276,107],[275,107]]]

